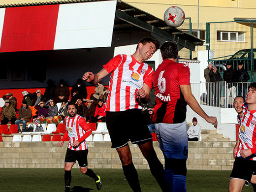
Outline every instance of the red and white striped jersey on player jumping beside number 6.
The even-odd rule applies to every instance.
[[[128,55],[117,55],[103,67],[112,72],[106,111],[141,109],[135,93],[143,83],[152,87],[153,68]]]

